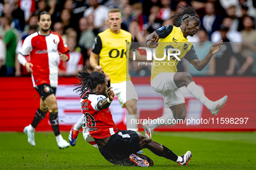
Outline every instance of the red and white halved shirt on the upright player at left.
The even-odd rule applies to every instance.
[[[68,46],[63,42],[61,35],[56,32],[50,31],[48,35],[41,35],[38,31],[25,39],[19,54],[30,55],[33,64],[31,75],[34,87],[45,83],[57,87],[58,52],[66,54],[69,59]],[[25,65],[25,63],[21,64]]]

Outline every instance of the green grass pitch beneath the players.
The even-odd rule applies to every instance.
[[[46,137],[46,134],[47,137]],[[62,133],[68,140],[68,133]],[[107,162],[97,148],[78,135],[75,147],[60,150],[53,133],[36,133],[36,146],[26,141],[24,133],[0,133],[0,169],[88,169],[136,170],[146,167],[116,166]],[[154,161],[150,170],[255,170],[255,132],[154,132],[152,140],[165,145],[178,155],[190,150],[193,157],[188,166],[154,155],[143,149]]]

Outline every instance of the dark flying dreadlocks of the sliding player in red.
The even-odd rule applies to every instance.
[[[83,96],[83,94],[88,91],[89,89],[96,88],[98,84],[102,84],[105,82],[105,75],[102,72],[92,72],[91,74],[87,72],[86,66],[79,70],[77,73],[77,78],[79,80],[79,83],[74,83],[75,86],[79,86],[75,88],[73,91],[77,90],[81,91],[80,98]]]

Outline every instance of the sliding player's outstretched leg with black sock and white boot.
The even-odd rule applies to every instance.
[[[188,161],[191,159],[192,155],[191,152],[188,151],[185,155],[177,156],[173,153],[169,148],[166,148],[164,145],[161,145],[155,141],[152,141],[149,137],[142,135],[141,133],[137,132],[140,139],[140,148],[148,148],[154,154],[159,157],[165,157],[166,159],[172,160],[177,162],[179,165],[187,165]]]

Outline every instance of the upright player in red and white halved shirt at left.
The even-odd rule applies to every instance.
[[[19,50],[19,63],[32,73],[33,86],[41,97],[40,107],[36,111],[35,118],[29,126],[25,127],[24,132],[28,135],[29,144],[35,146],[35,128],[49,111],[49,119],[58,147],[67,148],[69,143],[62,138],[59,132],[55,93],[58,85],[58,60],[67,61],[69,54],[62,37],[58,33],[50,31],[51,24],[50,14],[46,11],[40,13],[38,16],[40,30],[29,35]],[[31,63],[26,61],[24,57],[26,55],[30,55]]]

